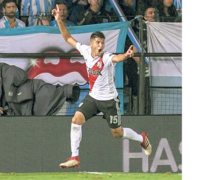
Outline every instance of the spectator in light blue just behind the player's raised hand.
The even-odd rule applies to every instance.
[[[65,26],[67,27],[71,27],[71,26],[76,26],[73,22],[71,21],[68,21],[67,18],[68,18],[68,8],[66,6],[65,3],[59,3],[59,10],[60,10],[60,17],[63,21],[63,23],[65,24]],[[58,23],[56,20],[53,20],[52,22],[50,22],[50,26],[56,26],[58,27]]]

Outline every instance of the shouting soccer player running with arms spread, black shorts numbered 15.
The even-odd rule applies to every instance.
[[[60,168],[79,168],[79,146],[82,139],[82,125],[93,116],[103,112],[115,138],[130,139],[140,142],[147,156],[152,153],[152,146],[147,133],[137,134],[130,128],[122,128],[120,101],[114,83],[114,66],[134,56],[133,46],[125,54],[113,55],[105,52],[105,36],[95,32],[91,36],[90,46],[77,42],[65,28],[59,14],[59,7],[52,10],[65,41],[77,49],[84,57],[89,74],[90,92],[79,105],[71,123],[72,156]]]

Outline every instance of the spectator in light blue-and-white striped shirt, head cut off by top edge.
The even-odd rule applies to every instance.
[[[22,0],[22,20],[27,24],[28,19],[28,26],[37,26],[38,17],[41,15],[51,16],[54,7],[55,0]]]

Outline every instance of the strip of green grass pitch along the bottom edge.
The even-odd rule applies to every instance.
[[[0,180],[184,180],[181,174],[142,173],[0,173]]]

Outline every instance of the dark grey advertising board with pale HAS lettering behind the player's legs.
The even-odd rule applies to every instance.
[[[0,173],[184,171],[184,116],[123,116],[123,127],[149,132],[153,153],[148,158],[138,142],[113,138],[102,117],[83,126],[80,169],[62,170],[71,156],[72,116],[1,117]]]

